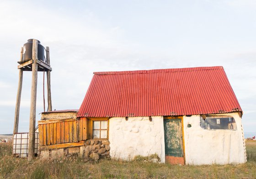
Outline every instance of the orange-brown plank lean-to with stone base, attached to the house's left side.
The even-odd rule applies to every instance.
[[[88,158],[95,151],[97,154],[92,154],[91,158],[109,156],[108,141],[87,140],[92,135],[91,130],[88,130],[88,125],[92,125],[92,122],[86,117],[77,118],[77,112],[78,110],[63,110],[42,113],[41,121],[38,121],[41,157],[56,158],[79,154]],[[101,153],[98,153],[99,150]]]

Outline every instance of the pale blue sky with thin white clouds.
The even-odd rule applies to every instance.
[[[256,132],[255,34],[255,0],[0,0],[0,134],[13,132],[17,61],[31,38],[50,48],[53,109],[79,109],[93,72],[223,66],[244,130]],[[31,76],[19,132],[29,128]],[[38,72],[37,121],[41,112]]]

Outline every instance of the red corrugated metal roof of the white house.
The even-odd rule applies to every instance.
[[[95,72],[79,117],[242,111],[223,67]]]

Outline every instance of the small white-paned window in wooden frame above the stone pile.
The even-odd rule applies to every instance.
[[[93,121],[93,138],[107,139],[107,121]]]

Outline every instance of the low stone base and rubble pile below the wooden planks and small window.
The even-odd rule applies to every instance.
[[[85,159],[99,160],[100,158],[110,158],[108,140],[86,140],[80,147],[58,148],[51,150],[42,150],[40,158],[54,159],[77,155]]]

